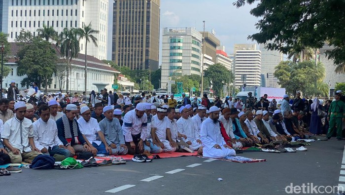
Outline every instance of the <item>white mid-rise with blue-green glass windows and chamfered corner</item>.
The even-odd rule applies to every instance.
[[[167,88],[169,77],[201,75],[201,42],[195,28],[164,28],[161,88]]]

